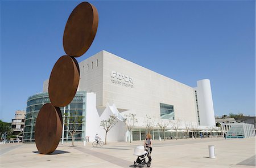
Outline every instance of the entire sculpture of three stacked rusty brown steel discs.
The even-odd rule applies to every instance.
[[[92,44],[98,27],[97,9],[82,2],[72,11],[65,25],[63,47],[67,55],[60,57],[49,77],[49,99],[39,111],[35,125],[35,143],[39,153],[55,151],[61,138],[63,120],[60,107],[75,97],[79,85],[79,64],[75,57],[84,54]]]

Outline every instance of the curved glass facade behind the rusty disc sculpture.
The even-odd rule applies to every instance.
[[[34,94],[28,97],[27,100],[27,110],[26,119],[24,123],[24,134],[23,143],[31,143],[35,141],[35,123],[38,117],[39,110],[44,104],[49,103],[48,92]],[[86,114],[86,92],[77,91],[76,96],[73,98],[72,102],[65,107],[65,113],[76,114],[84,116]],[[60,107],[61,114],[63,115],[64,107]],[[61,137],[62,139],[62,137]],[[75,140],[85,139],[85,123],[83,123],[76,135]],[[68,133],[66,127],[64,127],[64,141],[72,140],[72,136]]]

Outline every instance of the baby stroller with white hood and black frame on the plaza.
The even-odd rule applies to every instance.
[[[134,167],[142,167],[142,165],[147,165],[147,167],[150,167],[151,163],[146,162],[146,156],[150,152],[150,148],[148,147],[143,147],[143,146],[138,146],[137,148],[134,149],[133,155],[138,156],[137,160],[134,161]]]

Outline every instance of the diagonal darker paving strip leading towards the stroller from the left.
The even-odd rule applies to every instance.
[[[100,158],[101,160],[105,160],[105,161],[108,161],[110,163],[113,163],[114,165],[117,165],[117,166],[121,166],[121,167],[126,168],[129,165],[133,165],[133,162],[129,162],[129,161],[123,160],[122,158],[118,158],[118,157],[115,157],[115,156],[110,156],[109,154],[96,152],[94,150],[85,149],[85,148],[81,148],[81,147],[77,147],[75,149],[80,150],[81,152],[90,154],[94,157]]]

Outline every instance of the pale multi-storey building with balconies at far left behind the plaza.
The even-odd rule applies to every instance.
[[[20,140],[22,139],[25,117],[26,111],[17,110],[15,111],[15,118],[11,120],[11,128],[13,128],[13,135],[17,135]]]

